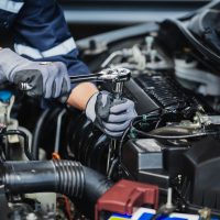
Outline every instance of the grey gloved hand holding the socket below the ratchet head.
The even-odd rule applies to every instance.
[[[106,134],[118,138],[138,114],[133,101],[116,100],[108,91],[100,91],[89,99],[86,116]]]

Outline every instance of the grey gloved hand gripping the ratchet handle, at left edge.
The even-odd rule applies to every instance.
[[[0,50],[0,82],[28,82],[32,97],[58,98],[68,96],[70,81],[61,62],[31,62],[9,48]]]

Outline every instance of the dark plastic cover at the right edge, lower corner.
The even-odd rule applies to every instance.
[[[220,140],[202,139],[185,153],[185,175],[191,204],[220,209]]]

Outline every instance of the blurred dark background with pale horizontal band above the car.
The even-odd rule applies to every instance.
[[[146,21],[179,18],[209,0],[58,0],[75,40]]]

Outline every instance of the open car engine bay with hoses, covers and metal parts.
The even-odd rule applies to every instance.
[[[92,73],[131,74],[122,84],[123,96],[134,101],[139,117],[120,139],[107,136],[84,112],[56,100],[31,99],[4,85],[1,219],[94,219],[98,199],[121,179],[155,186],[158,213],[219,218],[220,57],[213,40],[219,36],[207,35],[219,30],[211,23],[219,18],[219,8],[216,3],[179,20],[77,42]],[[194,22],[204,13],[209,30],[201,36]],[[117,92],[116,81],[96,84]],[[170,190],[172,206],[163,209]],[[112,212],[117,210],[96,219],[109,219]]]

